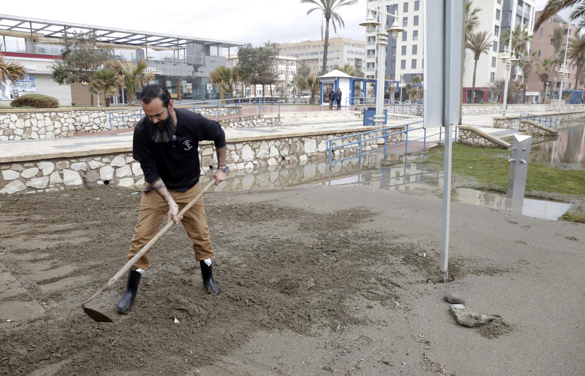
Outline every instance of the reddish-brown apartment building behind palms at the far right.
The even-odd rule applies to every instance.
[[[535,13],[536,19],[541,15],[542,11],[538,11]],[[526,100],[528,102],[542,102],[542,93],[546,90],[546,83],[543,84],[541,79],[536,74],[538,68],[541,67],[540,60],[545,58],[554,58],[555,57],[555,47],[552,45],[552,34],[553,30],[557,27],[562,27],[564,29],[563,32],[563,43],[561,50],[565,50],[565,44],[568,38],[573,38],[576,33],[576,27],[571,25],[568,20],[562,18],[559,15],[555,15],[548,20],[546,20],[533,36],[532,39],[532,49],[531,52],[535,52],[536,56],[538,57],[539,61],[534,64],[532,67],[531,75],[528,77],[528,86],[526,88],[526,96],[528,97]],[[569,41],[570,44],[570,41]],[[556,73],[559,70],[559,67],[555,68],[555,75],[550,76],[548,82],[550,85],[548,86],[548,94],[550,98],[550,93],[552,90],[560,89],[560,81],[561,77],[560,74]],[[583,80],[579,82],[577,85],[576,81],[576,74],[577,74],[577,65],[572,61],[567,61],[567,70],[569,74],[565,77],[565,85],[563,89],[572,90],[572,89],[583,89]]]

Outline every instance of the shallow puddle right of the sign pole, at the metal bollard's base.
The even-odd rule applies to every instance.
[[[487,206],[511,213],[528,215],[543,220],[558,220],[571,204],[534,199],[510,199],[505,194],[485,192],[469,188],[457,188],[451,193],[451,201],[473,205]]]

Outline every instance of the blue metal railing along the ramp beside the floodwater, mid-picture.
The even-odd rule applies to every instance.
[[[400,145],[404,145],[404,155],[407,155],[409,142],[423,140],[422,141],[422,148],[425,149],[426,148],[426,139],[429,137],[432,137],[432,136],[436,136],[436,135],[439,135],[439,144],[441,143],[442,137],[443,137],[443,127],[439,127],[439,132],[433,133],[433,134],[426,134],[425,127],[410,128],[410,126],[412,126],[413,124],[419,124],[419,123],[422,123],[422,120],[414,121],[412,123],[399,124],[397,126],[392,126],[392,127],[387,127],[387,128],[381,128],[381,129],[377,129],[377,130],[373,130],[373,131],[366,131],[366,132],[360,132],[360,133],[345,135],[345,136],[341,136],[341,137],[331,138],[331,139],[327,140],[327,149],[326,149],[329,152],[329,168],[331,168],[331,165],[333,163],[347,161],[348,159],[352,159],[352,158],[359,158],[358,163],[361,163],[363,155],[372,154],[372,153],[376,153],[376,152],[380,152],[380,151],[384,152],[384,158],[386,158],[387,149],[395,148],[395,147],[398,147]],[[404,127],[405,127],[405,130],[403,130],[403,131],[391,132],[392,130],[395,130],[396,128],[404,128]],[[409,131],[416,131],[419,129],[424,130],[423,137],[415,138],[414,140],[408,140],[408,132]],[[388,133],[389,131],[391,133]],[[457,126],[455,126],[455,130],[453,130],[453,132],[455,133],[455,141],[457,141]],[[374,137],[366,138],[367,135],[370,135],[373,133],[381,133],[381,134],[374,135]],[[405,135],[404,142],[398,142],[397,144],[391,144],[391,145],[387,144],[389,136],[399,135],[399,134]],[[359,139],[357,141],[347,142],[346,144],[341,144],[341,145],[336,145],[336,146],[333,145],[334,141],[343,140],[345,138],[350,138],[350,137],[359,137]],[[383,140],[384,140],[384,147],[383,148],[380,147],[377,149],[372,149],[370,151],[363,151],[363,146],[362,146],[363,142],[378,140],[379,138],[383,138]],[[357,155],[352,155],[352,156],[348,156],[346,158],[337,159],[336,161],[333,161],[333,151],[335,149],[347,147],[350,145],[356,145],[356,144],[358,145],[358,154]]]

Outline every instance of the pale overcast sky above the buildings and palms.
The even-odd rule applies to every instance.
[[[481,6],[475,0],[474,5]],[[490,0],[495,1],[495,0]],[[259,44],[271,40],[301,41],[321,39],[321,13],[307,16],[309,4],[299,0],[191,0],[191,1],[116,1],[83,2],[57,0],[47,5],[46,0],[28,0],[21,8],[7,8],[2,12],[18,16],[86,23],[89,25],[119,27],[141,31],[180,34],[184,36],[220,39]],[[56,5],[59,6],[56,6]],[[541,10],[546,0],[536,0]],[[345,28],[329,36],[345,36],[364,40],[365,30],[359,26],[366,17],[366,0],[340,9]],[[22,12],[16,12],[21,9]],[[566,14],[564,14],[566,13]],[[562,16],[568,16],[568,11]]]

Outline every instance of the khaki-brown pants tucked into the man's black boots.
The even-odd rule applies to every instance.
[[[144,188],[148,186],[144,183]],[[178,190],[168,190],[171,194],[179,210],[185,207],[197,194],[201,193],[201,183],[195,184],[185,192]],[[142,201],[140,201],[140,211],[138,212],[138,223],[134,228],[134,237],[130,243],[128,250],[128,260],[132,259],[136,253],[140,252],[150,239],[159,232],[160,221],[167,213],[168,206],[163,201],[155,190],[142,193]],[[205,208],[203,206],[203,197],[183,215],[181,221],[183,227],[187,231],[187,235],[193,241],[193,249],[195,250],[195,260],[205,260],[214,255],[214,250],[211,248],[211,240],[209,239],[209,227],[207,226],[207,218],[205,217]],[[132,266],[132,269],[142,268],[147,270],[150,265],[150,257],[148,252]]]

